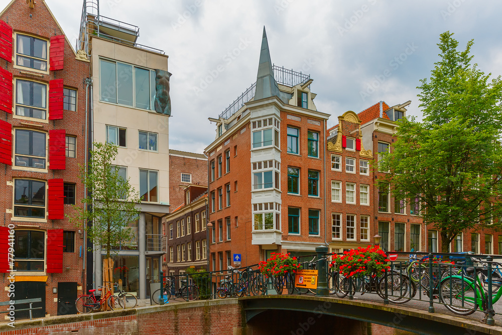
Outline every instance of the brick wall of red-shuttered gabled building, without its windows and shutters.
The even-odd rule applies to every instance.
[[[49,38],[54,35],[63,35],[59,25],[55,21],[54,17],[50,13],[45,2],[37,2],[34,9],[30,9],[24,0],[17,0],[13,2],[8,8],[2,12],[0,19],[8,21],[9,25],[14,28],[14,36],[19,34],[27,34],[28,36],[33,36],[38,39],[47,41],[47,51],[49,51]],[[13,44],[15,45],[15,44]],[[15,58],[15,51],[13,50],[13,60]],[[47,58],[49,58],[49,53],[47,53]],[[64,231],[71,231],[75,233],[74,239],[74,250],[73,252],[63,253],[63,272],[48,274],[45,270],[43,272],[32,271],[32,272],[17,272],[17,276],[24,276],[23,279],[19,278],[19,285],[22,285],[22,281],[25,282],[44,282],[45,286],[45,301],[43,302],[46,315],[57,315],[58,314],[58,294],[53,293],[53,288],[58,287],[60,282],[76,283],[78,287],[78,294],[82,293],[82,287],[85,288],[85,276],[84,276],[84,266],[83,257],[85,254],[85,245],[83,234],[79,234],[79,230],[82,228],[77,228],[70,223],[68,218],[64,219],[15,219],[13,218],[13,198],[14,198],[14,182],[16,178],[19,179],[33,179],[43,182],[47,182],[49,179],[62,178],[65,183],[75,184],[75,203],[80,204],[80,200],[84,196],[84,187],[80,182],[79,175],[79,165],[83,165],[85,162],[85,99],[86,90],[83,83],[83,79],[89,76],[89,64],[85,61],[76,60],[76,54],[73,51],[72,46],[68,40],[64,40],[64,67],[62,70],[57,71],[47,71],[46,73],[33,72],[30,68],[14,68],[14,62],[7,63],[2,62],[2,67],[12,72],[14,75],[14,82],[16,79],[23,79],[28,81],[36,81],[47,85],[47,91],[49,88],[49,80],[52,79],[63,79],[64,87],[71,88],[77,91],[77,102],[76,110],[64,110],[62,120],[46,121],[37,120],[33,118],[17,118],[15,107],[14,117],[11,114],[5,115],[5,120],[12,124],[13,128],[13,154],[14,145],[16,143],[15,130],[16,129],[26,129],[33,130],[37,132],[43,132],[46,134],[46,138],[49,137],[49,131],[53,129],[65,130],[66,135],[70,135],[76,138],[76,149],[75,158],[66,157],[66,169],[64,170],[45,170],[42,172],[37,172],[37,169],[26,169],[21,170],[19,167],[13,163],[13,165],[5,166],[5,173],[2,174],[0,180],[0,190],[3,194],[0,199],[0,210],[4,212],[4,221],[2,226],[8,226],[9,224],[14,224],[16,230],[31,230],[31,231],[42,231],[45,233],[45,261],[44,266],[47,268],[47,230],[49,229],[63,229]],[[47,68],[49,67],[49,59],[47,59]],[[16,93],[16,85],[14,85],[14,94]],[[15,95],[14,95],[15,96]],[[16,104],[16,99],[13,99],[13,104]],[[50,113],[50,111],[48,112]],[[48,148],[47,148],[48,149]],[[14,162],[14,158],[13,158]],[[46,150],[46,162],[48,159],[48,150]],[[45,187],[45,210],[47,211],[47,184]],[[71,205],[64,205],[64,214],[72,216],[75,214],[75,210]],[[47,217],[47,213],[44,215]],[[15,255],[16,258],[16,255]],[[9,281],[6,276],[0,278],[0,285],[7,287]],[[21,289],[20,289],[21,290]],[[22,297],[18,297],[21,299]],[[6,301],[7,292],[2,290],[0,293],[0,301]],[[64,310],[60,310],[60,313],[65,313]]]

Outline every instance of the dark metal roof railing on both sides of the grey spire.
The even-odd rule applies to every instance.
[[[285,69],[279,66],[273,66],[272,70],[274,71],[274,79],[278,84],[282,84],[285,86],[296,86],[298,84],[303,84],[309,81],[310,74],[305,74],[302,72],[297,72],[289,69]],[[220,118],[228,119],[232,115],[235,114],[237,110],[242,108],[242,106],[249,100],[251,100],[255,96],[256,90],[256,81],[253,85],[251,85],[248,89],[246,89],[240,96],[235,99],[225,110],[219,115]]]

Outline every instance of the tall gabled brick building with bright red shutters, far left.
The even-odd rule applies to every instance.
[[[75,299],[85,289],[85,236],[65,215],[85,194],[79,165],[86,160],[89,63],[44,1],[13,1],[0,20],[1,239],[15,232],[11,265],[2,242],[1,272],[15,271],[11,300],[42,299],[34,317],[76,313]],[[0,301],[7,301],[8,275],[0,283],[6,288]]]

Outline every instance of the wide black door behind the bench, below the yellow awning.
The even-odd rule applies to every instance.
[[[32,307],[42,307],[41,309],[35,309],[32,311],[32,316],[35,317],[45,317],[45,282],[41,281],[21,281],[16,282],[15,286],[15,296],[16,300],[23,299],[35,299],[41,298],[42,302],[34,302]],[[29,319],[30,311],[18,311],[19,309],[30,308],[29,303],[16,304],[16,320],[18,319]]]

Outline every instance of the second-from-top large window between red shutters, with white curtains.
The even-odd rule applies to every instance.
[[[47,85],[16,79],[16,115],[47,119]]]

